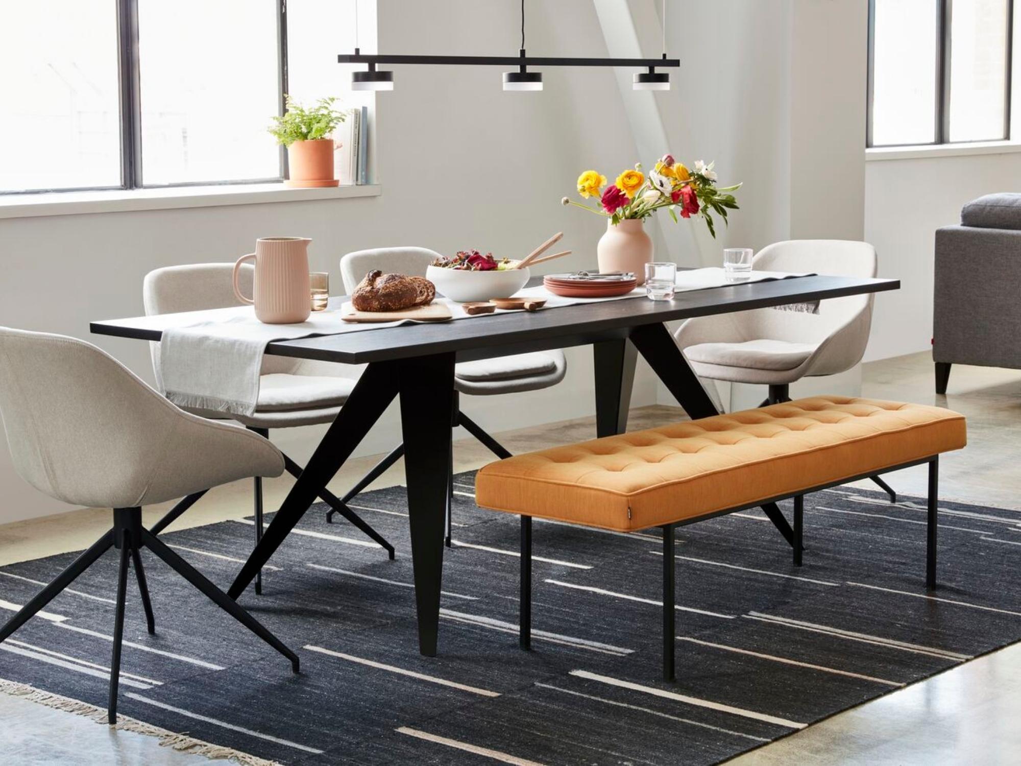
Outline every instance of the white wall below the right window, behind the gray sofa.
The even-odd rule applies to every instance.
[[[901,280],[876,296],[866,361],[929,349],[936,229],[961,221],[976,197],[1021,190],[1021,153],[869,161],[865,238],[879,253],[879,276]]]

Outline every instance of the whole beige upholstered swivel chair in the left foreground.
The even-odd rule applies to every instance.
[[[0,328],[0,416],[21,478],[64,502],[113,509],[113,527],[0,628],[0,641],[117,548],[108,706],[109,722],[116,723],[129,560],[149,632],[155,632],[141,557],[148,548],[298,671],[293,652],[156,536],[164,523],[142,526],[142,506],[251,476],[279,476],[284,458],[273,444],[182,412],[89,343],[7,328]]]

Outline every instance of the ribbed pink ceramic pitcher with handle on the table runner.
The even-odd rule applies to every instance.
[[[262,237],[255,252],[242,255],[234,265],[234,294],[242,303],[255,304],[255,317],[268,325],[304,322],[311,314],[308,285],[308,243],[305,237]],[[238,288],[238,273],[246,260],[255,261],[252,297]]]

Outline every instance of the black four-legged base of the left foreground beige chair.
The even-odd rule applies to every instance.
[[[120,565],[117,574],[116,611],[113,623],[113,654],[110,660],[110,686],[107,704],[107,722],[117,722],[117,685],[120,677],[120,647],[124,639],[125,603],[128,594],[128,564],[134,565],[138,580],[142,606],[149,633],[155,633],[155,619],[152,614],[152,603],[149,601],[149,587],[142,567],[142,548],[148,548],[158,559],[161,559],[171,569],[184,577],[194,587],[208,596],[217,607],[230,614],[234,619],[251,630],[255,635],[269,643],[280,654],[291,661],[291,669],[299,670],[298,656],[291,652],[273,633],[266,630],[254,617],[238,606],[233,599],[217,588],[198,570],[166,546],[155,534],[142,526],[142,510],[139,508],[124,508],[113,510],[113,527],[100,537],[92,546],[85,550],[75,562],[39,593],[25,605],[3,627],[0,627],[0,642],[17,630],[35,614],[46,607],[58,593],[70,584],[85,570],[91,567],[110,547],[120,552]]]

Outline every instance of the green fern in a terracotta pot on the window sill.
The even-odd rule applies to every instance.
[[[333,170],[333,131],[344,113],[333,108],[336,98],[321,98],[308,108],[286,97],[287,110],[273,118],[270,133],[287,147],[290,169],[285,186],[337,186]]]

